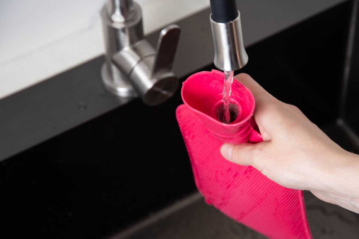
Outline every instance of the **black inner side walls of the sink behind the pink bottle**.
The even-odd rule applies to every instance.
[[[248,47],[240,72],[359,153],[359,30],[351,58],[347,52],[352,6]],[[86,64],[99,72],[103,61]],[[180,89],[156,107],[136,99],[1,162],[0,238],[106,238],[195,192],[175,118],[180,104]]]

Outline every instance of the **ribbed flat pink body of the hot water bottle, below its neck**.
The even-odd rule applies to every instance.
[[[223,144],[185,105],[176,110],[198,190],[208,204],[271,239],[311,239],[302,191],[220,154]]]

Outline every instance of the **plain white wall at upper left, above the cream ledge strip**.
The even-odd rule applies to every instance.
[[[0,0],[0,63],[91,27],[104,1]]]

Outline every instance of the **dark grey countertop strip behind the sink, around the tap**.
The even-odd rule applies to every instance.
[[[238,0],[244,45],[251,46],[344,1]],[[180,78],[213,63],[209,15],[210,9],[205,9],[176,23],[181,36],[173,71]],[[159,32],[146,36],[153,46]],[[0,100],[0,161],[128,101],[116,100],[103,89],[96,61],[6,97]],[[81,105],[87,110],[80,111]]]

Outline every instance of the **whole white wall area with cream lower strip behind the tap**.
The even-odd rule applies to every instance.
[[[209,0],[135,0],[149,34]],[[105,0],[0,0],[0,100],[104,52]]]

